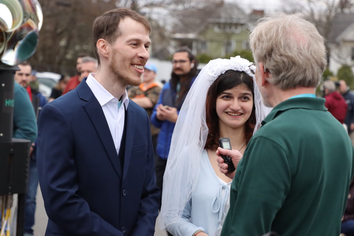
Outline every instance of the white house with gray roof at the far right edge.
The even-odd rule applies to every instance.
[[[328,45],[329,69],[337,74],[338,69],[347,64],[354,71],[354,13],[338,13],[333,18]]]

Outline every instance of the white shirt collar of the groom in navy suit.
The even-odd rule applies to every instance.
[[[90,73],[89,76],[86,79],[87,85],[90,87],[93,95],[97,98],[99,104],[101,107],[105,105],[106,103],[110,102],[114,96],[110,94],[96,79],[95,76],[96,73]],[[129,104],[129,98],[127,94],[127,90],[123,93],[122,97],[122,103],[124,103],[125,109],[128,108]]]

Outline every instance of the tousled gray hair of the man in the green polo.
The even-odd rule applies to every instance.
[[[326,66],[323,37],[301,13],[277,13],[258,20],[251,29],[250,46],[255,62],[263,63],[282,90],[317,87]]]

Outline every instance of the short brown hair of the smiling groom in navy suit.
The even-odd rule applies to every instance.
[[[126,17],[143,24],[145,29],[150,33],[151,28],[148,20],[131,9],[117,8],[103,13],[102,16],[95,19],[92,26],[93,47],[95,48],[98,65],[100,64],[100,60],[96,47],[97,41],[99,39],[105,39],[110,44],[113,44],[121,35],[119,23]]]

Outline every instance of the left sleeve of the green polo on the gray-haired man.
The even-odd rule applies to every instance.
[[[290,184],[290,166],[282,146],[267,137],[252,138],[232,183],[222,236],[269,232]]]

